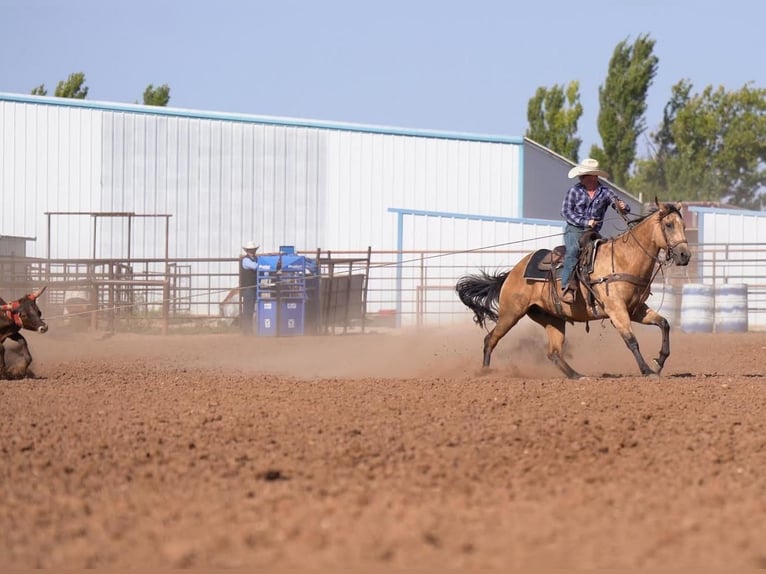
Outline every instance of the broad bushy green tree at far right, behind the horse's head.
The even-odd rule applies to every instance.
[[[761,209],[766,186],[766,89],[728,92],[673,86],[654,157],[638,162],[634,187],[673,200]]]

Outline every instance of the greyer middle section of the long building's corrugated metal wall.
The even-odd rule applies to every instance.
[[[103,190],[115,211],[171,214],[171,254],[315,247],[324,134],[309,128],[104,112]],[[156,226],[155,226],[156,227]],[[151,257],[156,229],[136,237]]]

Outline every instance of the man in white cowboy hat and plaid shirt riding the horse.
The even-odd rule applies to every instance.
[[[561,205],[561,215],[567,222],[564,229],[566,255],[561,270],[561,300],[572,303],[577,292],[573,271],[580,256],[580,236],[586,230],[598,232],[601,229],[610,205],[624,213],[630,212],[630,206],[599,180],[600,177],[608,178],[609,174],[599,169],[595,159],[582,160],[569,170],[567,177],[578,178],[577,183],[566,192]]]

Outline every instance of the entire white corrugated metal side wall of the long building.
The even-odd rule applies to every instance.
[[[391,207],[521,216],[521,142],[0,95],[0,145],[0,232],[37,237],[33,256],[48,255],[56,211],[169,214],[177,258],[251,239],[393,249]],[[99,218],[97,257],[127,255],[127,225]],[[164,226],[133,219],[131,256],[163,257]],[[53,216],[50,256],[90,257],[93,233],[88,216]]]

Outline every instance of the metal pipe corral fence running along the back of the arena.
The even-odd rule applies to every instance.
[[[766,330],[764,246],[691,247],[690,265],[663,267],[653,286],[681,293],[687,284],[744,285],[747,329]],[[307,317],[306,334],[470,324],[472,314],[455,294],[458,278],[482,269],[508,269],[528,252],[297,251],[317,262],[323,282],[316,316]],[[65,324],[107,332],[226,331],[237,327],[238,282],[238,258],[0,256],[0,295],[10,301],[46,285],[41,308],[52,328]],[[671,319],[678,327],[675,323]]]

